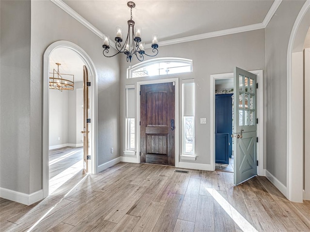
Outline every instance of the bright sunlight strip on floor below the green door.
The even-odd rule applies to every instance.
[[[214,188],[206,188],[225,212],[244,232],[258,232],[230,203],[228,203]]]

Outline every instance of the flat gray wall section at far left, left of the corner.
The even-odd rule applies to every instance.
[[[1,0],[0,12],[0,187],[29,193],[31,1]]]

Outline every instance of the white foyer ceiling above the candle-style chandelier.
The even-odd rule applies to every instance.
[[[63,0],[114,41],[115,27],[127,31],[127,0]],[[134,0],[133,20],[150,43],[263,23],[274,0]]]

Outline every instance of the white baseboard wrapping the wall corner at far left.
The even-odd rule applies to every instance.
[[[31,194],[26,194],[7,188],[0,188],[0,197],[21,204],[31,205],[43,199],[43,189]]]

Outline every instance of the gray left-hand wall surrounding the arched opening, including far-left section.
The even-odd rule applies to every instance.
[[[84,49],[98,73],[98,164],[119,156],[118,58],[104,58],[102,39],[51,1],[1,1],[1,188],[42,189],[43,54],[59,40]]]

